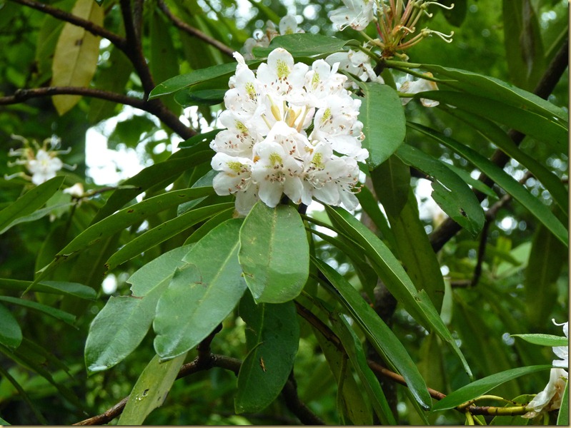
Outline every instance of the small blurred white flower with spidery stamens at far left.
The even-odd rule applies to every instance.
[[[24,165],[31,175],[20,172],[12,175],[5,175],[4,178],[6,180],[16,176],[21,176],[31,180],[35,185],[40,185],[41,183],[45,183],[47,180],[54,178],[56,173],[64,166],[70,170],[75,168],[74,166],[65,165],[61,159],[57,157],[59,154],[69,153],[71,150],[71,148],[67,151],[54,150],[59,146],[60,141],[58,138],[46,138],[42,146],[39,146],[39,144],[34,141],[35,150],[30,147],[30,143],[26,138],[15,135],[13,135],[12,138],[22,141],[24,143],[24,147],[17,150],[10,150],[8,156],[17,156],[19,159],[14,162],[9,162],[8,166]],[[48,149],[48,145],[51,146],[51,149]]]

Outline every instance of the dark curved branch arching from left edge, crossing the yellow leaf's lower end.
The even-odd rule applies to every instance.
[[[172,111],[169,111],[169,109],[158,100],[144,101],[140,98],[134,98],[120,93],[102,91],[101,89],[95,88],[81,88],[79,86],[46,86],[44,88],[19,89],[14,93],[14,95],[0,97],[0,106],[21,103],[31,98],[54,95],[91,96],[93,98],[101,98],[107,101],[113,101],[114,103],[140,108],[141,110],[157,116],[160,121],[184,139],[191,138],[197,134],[196,131],[193,131],[185,126],[184,123],[179,121],[179,118],[177,118]]]

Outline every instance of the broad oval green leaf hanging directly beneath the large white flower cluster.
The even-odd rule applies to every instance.
[[[309,277],[309,244],[302,218],[289,205],[258,201],[240,230],[240,265],[256,302],[283,303]]]

